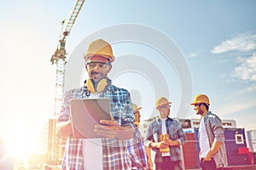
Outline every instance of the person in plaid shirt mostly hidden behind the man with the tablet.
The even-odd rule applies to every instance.
[[[141,114],[139,110],[142,109],[142,107],[138,108],[136,104],[132,104],[132,107],[135,117],[134,124],[138,127],[139,122],[141,122]],[[128,151],[131,156],[131,169],[148,170],[148,161],[143,136],[137,127],[133,133],[133,138],[127,141]]]

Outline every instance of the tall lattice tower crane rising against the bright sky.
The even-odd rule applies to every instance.
[[[67,36],[73,28],[75,20],[78,18],[79,12],[84,4],[84,0],[77,0],[71,14],[67,20],[62,21],[61,35],[55,50],[55,54],[52,55],[50,61],[51,64],[56,65],[56,79],[55,79],[55,115],[58,115],[61,111],[61,101],[64,89],[64,77],[65,77],[65,65],[66,61],[66,49],[65,44]]]

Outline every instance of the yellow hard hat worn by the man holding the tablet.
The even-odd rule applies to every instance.
[[[93,55],[99,55],[107,58],[110,60],[110,62],[113,62],[114,60],[111,45],[102,39],[97,39],[94,42],[90,42],[87,51],[84,54],[84,59],[90,59],[90,57]]]

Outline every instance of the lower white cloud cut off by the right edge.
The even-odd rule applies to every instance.
[[[256,82],[256,54],[247,59],[240,59],[241,65],[234,70],[234,77]]]

